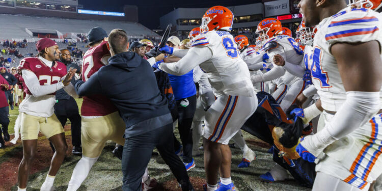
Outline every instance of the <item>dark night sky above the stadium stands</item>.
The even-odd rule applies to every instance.
[[[174,1],[174,0],[78,0],[84,9],[97,11],[123,12],[123,5],[138,6],[139,22],[149,29],[158,29],[159,17],[171,12],[174,8],[209,8],[215,5],[235,6],[254,4],[259,0],[229,0],[229,1]]]

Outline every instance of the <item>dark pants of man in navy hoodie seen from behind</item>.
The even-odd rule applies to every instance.
[[[170,167],[182,189],[189,190],[191,183],[187,171],[175,154],[173,144],[172,124],[126,139],[122,154],[122,190],[142,190],[142,176],[154,147],[158,149],[160,156]]]

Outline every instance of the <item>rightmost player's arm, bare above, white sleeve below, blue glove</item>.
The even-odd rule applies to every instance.
[[[346,91],[346,101],[331,123],[326,124],[316,134],[307,136],[297,146],[296,150],[303,158],[304,155],[309,155],[304,153],[304,150],[317,157],[326,146],[363,126],[380,109],[382,61],[379,43],[375,40],[363,43],[336,43],[332,45],[331,52],[337,60]]]

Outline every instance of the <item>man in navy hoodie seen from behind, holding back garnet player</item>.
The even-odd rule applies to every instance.
[[[142,190],[142,176],[152,150],[157,147],[182,189],[194,190],[182,161],[175,154],[173,120],[152,67],[137,53],[127,51],[127,34],[121,29],[110,33],[107,47],[112,54],[108,65],[86,82],[77,80],[74,87],[79,96],[103,94],[118,107],[126,124],[122,189]]]

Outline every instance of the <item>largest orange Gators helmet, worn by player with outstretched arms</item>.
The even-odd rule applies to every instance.
[[[231,31],[233,24],[233,13],[226,7],[213,6],[203,15],[200,31],[202,33],[214,30]]]

